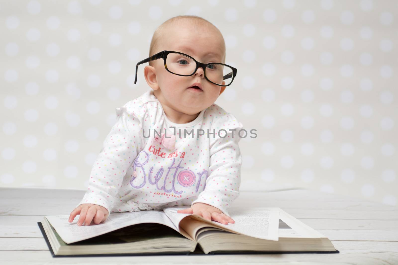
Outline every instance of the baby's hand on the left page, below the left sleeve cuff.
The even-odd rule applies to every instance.
[[[100,224],[105,221],[108,217],[108,211],[104,207],[96,204],[80,204],[78,207],[73,209],[69,215],[69,222],[72,222],[76,215],[80,215],[77,225],[81,226],[83,222],[86,225],[90,225],[91,221],[94,224]],[[94,219],[93,219],[94,218]]]

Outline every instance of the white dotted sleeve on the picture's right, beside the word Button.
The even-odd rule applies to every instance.
[[[205,189],[192,204],[207,203],[229,215],[227,209],[239,196],[242,156],[238,132],[242,128],[242,124],[229,113],[213,122],[212,131],[215,129],[216,133],[214,140],[210,140],[209,177]]]

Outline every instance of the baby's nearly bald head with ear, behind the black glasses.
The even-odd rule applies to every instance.
[[[197,16],[177,16],[160,25],[152,37],[149,56],[163,50],[182,52],[205,64],[225,63],[225,42],[221,32],[212,23]],[[193,61],[186,61],[186,57],[179,58],[178,54],[175,55],[177,57],[174,57],[174,61],[170,61],[170,65],[171,56],[168,55],[169,70],[172,64],[178,64],[179,69],[188,68],[189,64],[195,65]],[[214,68],[214,65],[210,65],[207,69],[208,78]],[[172,74],[166,70],[164,60],[161,58],[150,61],[144,68],[144,75],[162,106],[172,108],[181,114],[194,115],[201,112],[211,106],[225,89],[222,86],[225,84],[222,77],[217,81],[222,85],[211,83],[205,78],[201,67],[191,76]],[[201,90],[189,89],[194,83],[199,83]]]

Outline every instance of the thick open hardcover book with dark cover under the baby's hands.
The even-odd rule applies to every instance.
[[[328,238],[279,208],[230,208],[234,223],[162,211],[111,213],[105,222],[78,226],[78,217],[46,215],[38,225],[54,257],[208,253],[338,253]]]

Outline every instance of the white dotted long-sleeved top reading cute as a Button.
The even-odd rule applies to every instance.
[[[232,114],[212,104],[195,120],[176,124],[152,89],[116,114],[78,205],[101,205],[114,213],[201,202],[228,215],[239,195],[242,164],[243,126]]]

